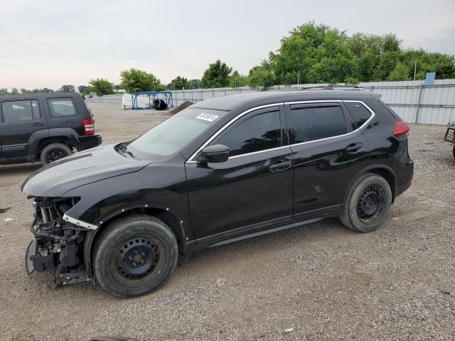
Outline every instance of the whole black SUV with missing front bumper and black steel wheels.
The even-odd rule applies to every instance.
[[[36,207],[28,272],[137,296],[164,283],[179,254],[326,217],[373,231],[411,185],[408,131],[362,91],[193,104],[134,141],[55,161],[23,183]]]

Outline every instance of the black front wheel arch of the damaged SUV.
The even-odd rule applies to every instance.
[[[136,215],[136,214],[142,214],[142,215],[150,215],[152,217],[156,217],[159,220],[163,221],[168,227],[171,229],[173,232],[174,236],[177,239],[177,244],[178,244],[178,250],[181,251],[181,246],[186,242],[186,237],[185,230],[183,229],[182,223],[183,220],[179,220],[179,218],[173,213],[169,212],[168,210],[165,210],[160,207],[132,207],[129,208],[128,210],[124,211],[117,211],[114,212],[114,214],[110,215],[107,220],[102,222],[100,224],[100,227],[98,227],[95,230],[90,230],[85,234],[85,239],[84,239],[84,262],[85,262],[85,267],[87,269],[87,274],[90,278],[93,278],[93,269],[92,269],[92,247],[93,244],[95,244],[95,241],[97,237],[100,235],[100,232],[104,230],[107,226],[109,226],[110,223],[114,222],[115,220],[118,220],[121,217],[126,217],[128,215]]]

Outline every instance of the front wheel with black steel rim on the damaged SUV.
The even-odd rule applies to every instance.
[[[93,249],[95,281],[117,297],[153,291],[171,276],[177,261],[173,232],[149,215],[115,220],[97,237]]]

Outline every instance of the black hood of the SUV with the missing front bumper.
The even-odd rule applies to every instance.
[[[22,192],[35,197],[61,197],[88,183],[140,171],[151,161],[126,158],[114,145],[75,153],[44,166],[22,184]]]

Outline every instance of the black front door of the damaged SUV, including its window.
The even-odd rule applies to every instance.
[[[292,220],[292,155],[280,107],[258,109],[209,145],[230,148],[223,163],[186,162],[188,202],[198,243]]]

